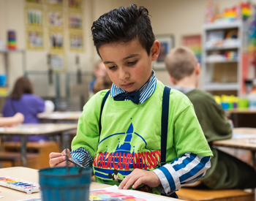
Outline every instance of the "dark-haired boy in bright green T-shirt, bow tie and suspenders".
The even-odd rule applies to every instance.
[[[113,86],[102,115],[107,91],[99,91],[83,108],[72,159],[92,165],[99,183],[176,197],[176,190],[195,182],[211,166],[212,153],[189,99],[171,90],[167,147],[162,150],[167,164],[160,167],[165,86],[151,67],[160,45],[148,10],[135,4],[111,10],[93,23],[91,31]],[[64,155],[50,154],[51,167],[64,164]]]

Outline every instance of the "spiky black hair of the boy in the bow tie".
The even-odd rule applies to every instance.
[[[110,10],[101,15],[92,24],[91,32],[98,54],[102,45],[111,42],[129,42],[138,37],[140,45],[149,55],[155,40],[148,10],[135,4]]]

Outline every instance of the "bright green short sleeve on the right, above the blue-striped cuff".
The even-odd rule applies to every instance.
[[[192,104],[186,107],[176,118],[174,145],[178,157],[186,152],[192,152],[199,156],[213,156]]]

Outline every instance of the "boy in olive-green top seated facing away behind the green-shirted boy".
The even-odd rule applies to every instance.
[[[170,74],[170,80],[176,85],[172,88],[186,94],[194,105],[208,143],[211,145],[214,140],[231,138],[232,129],[222,107],[210,94],[196,89],[200,64],[197,63],[195,53],[185,47],[174,48],[165,57],[165,67]],[[210,189],[256,187],[256,174],[252,167],[217,148],[211,147],[211,151],[214,153],[211,168],[202,178],[201,187],[207,186]]]

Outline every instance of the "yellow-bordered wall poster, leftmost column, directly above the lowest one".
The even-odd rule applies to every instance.
[[[26,9],[26,23],[29,26],[42,26],[42,10],[37,8]]]

